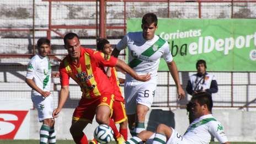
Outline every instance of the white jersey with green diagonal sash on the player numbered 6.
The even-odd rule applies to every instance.
[[[116,45],[116,49],[129,49],[129,66],[138,74],[151,73],[151,78],[157,77],[157,70],[160,58],[163,57],[166,62],[173,60],[167,41],[154,35],[152,40],[145,40],[142,31],[128,33]],[[127,74],[129,75],[129,74]],[[132,77],[126,80],[134,80]]]

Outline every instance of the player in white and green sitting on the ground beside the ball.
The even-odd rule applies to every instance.
[[[211,136],[220,143],[229,144],[223,126],[211,114],[212,99],[209,93],[198,93],[191,99],[193,113],[196,119],[189,125],[182,136],[172,127],[159,124],[156,133],[142,131],[137,137],[132,137],[126,143],[134,144],[141,141],[153,144],[206,144],[210,143]],[[149,141],[151,140],[151,141]]]

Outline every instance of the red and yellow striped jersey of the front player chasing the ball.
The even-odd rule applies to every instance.
[[[82,97],[95,98],[104,93],[113,94],[114,86],[110,84],[104,66],[114,67],[117,60],[112,56],[105,60],[102,52],[81,47],[77,65],[74,65],[70,56],[66,56],[61,61],[59,70],[61,86],[68,86],[71,77],[81,87]]]

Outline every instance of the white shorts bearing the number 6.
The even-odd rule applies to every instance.
[[[156,88],[157,79],[150,79],[148,82],[125,82],[124,92],[126,114],[135,114],[137,104],[142,104],[150,108],[153,103]]]

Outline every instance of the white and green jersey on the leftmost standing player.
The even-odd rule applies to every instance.
[[[26,78],[33,79],[36,86],[40,89],[50,92],[51,85],[51,64],[49,57],[35,55],[28,63],[28,72]],[[36,90],[32,90],[33,95],[40,95]]]

